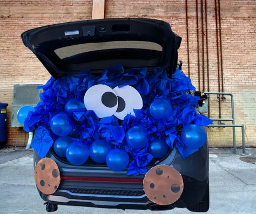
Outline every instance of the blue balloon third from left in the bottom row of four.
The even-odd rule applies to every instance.
[[[96,140],[90,146],[90,156],[96,163],[106,162],[106,156],[110,152],[111,146],[104,140]]]

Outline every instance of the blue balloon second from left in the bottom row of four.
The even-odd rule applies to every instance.
[[[66,149],[66,158],[73,165],[81,165],[87,161],[89,149],[84,143],[73,142]]]

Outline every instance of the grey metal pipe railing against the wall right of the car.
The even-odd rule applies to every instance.
[[[232,127],[233,128],[233,153],[237,154],[237,142],[235,139],[235,127],[241,127],[242,130],[242,153],[245,154],[245,126],[242,124],[235,124],[235,115],[234,115],[234,96],[231,93],[224,93],[224,92],[204,92],[205,94],[209,95],[229,95],[231,96],[231,113],[232,118],[211,118],[213,121],[231,121],[232,124],[211,124],[208,127]],[[220,99],[219,99],[220,102]]]

